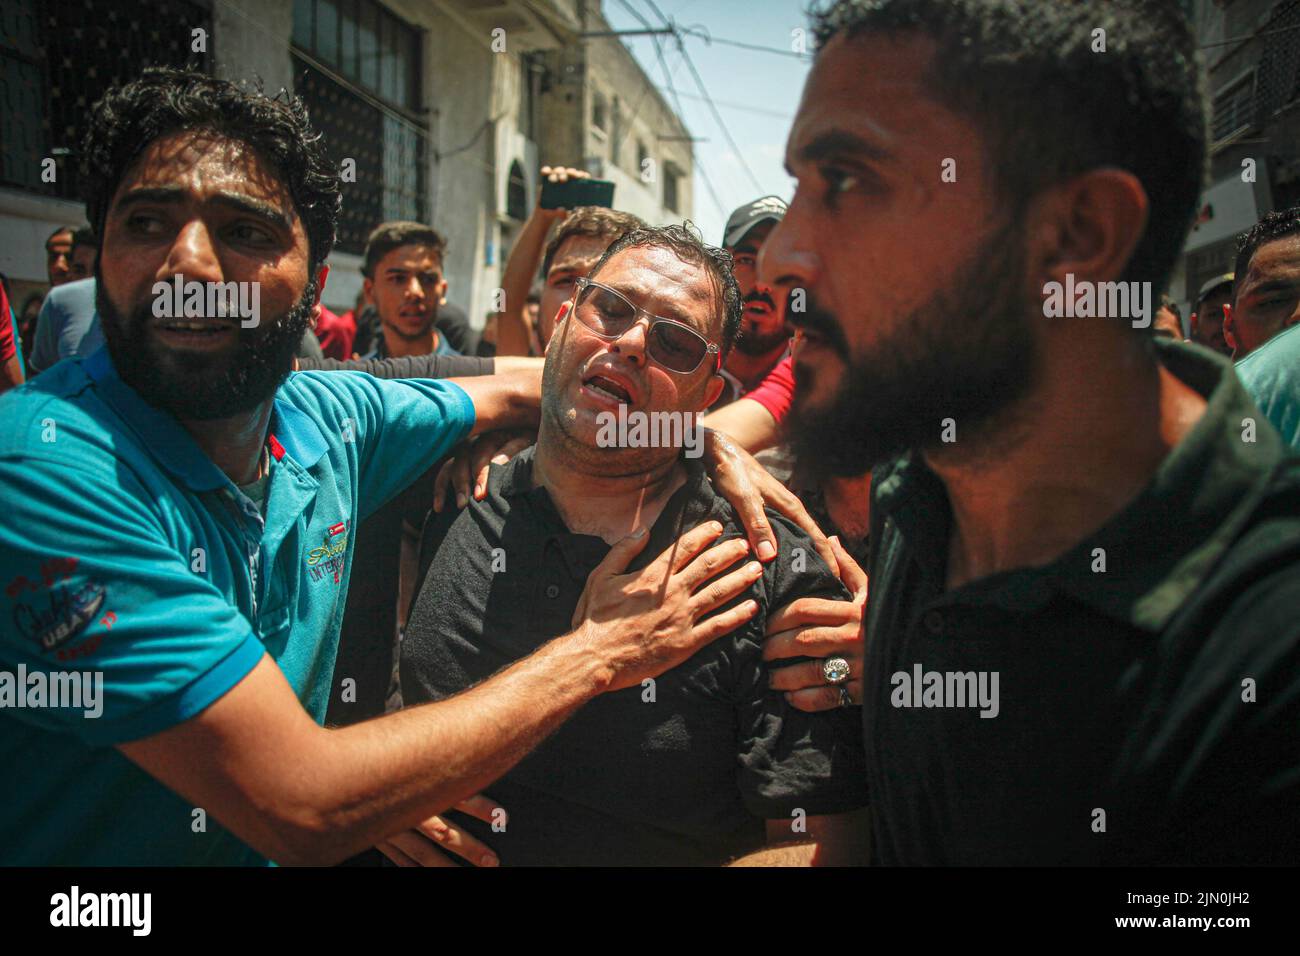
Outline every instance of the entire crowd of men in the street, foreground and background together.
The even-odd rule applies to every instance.
[[[88,728],[0,714],[0,758],[40,754],[0,858],[1295,861],[1300,208],[1186,326],[1167,295],[1049,317],[1052,282],[1167,285],[1206,150],[1180,14],[812,20],[789,204],[718,247],[538,206],[477,342],[439,224],[378,224],[354,308],[321,306],[342,200],[299,103],[107,94],[95,232],[51,235],[34,328],[0,316],[34,376],[0,663],[112,689]],[[263,276],[261,326],[151,317],[183,271]],[[705,459],[603,445],[620,408],[703,416]],[[350,637],[372,604],[396,636]],[[130,812],[58,831],[99,799],[74,767]]]

